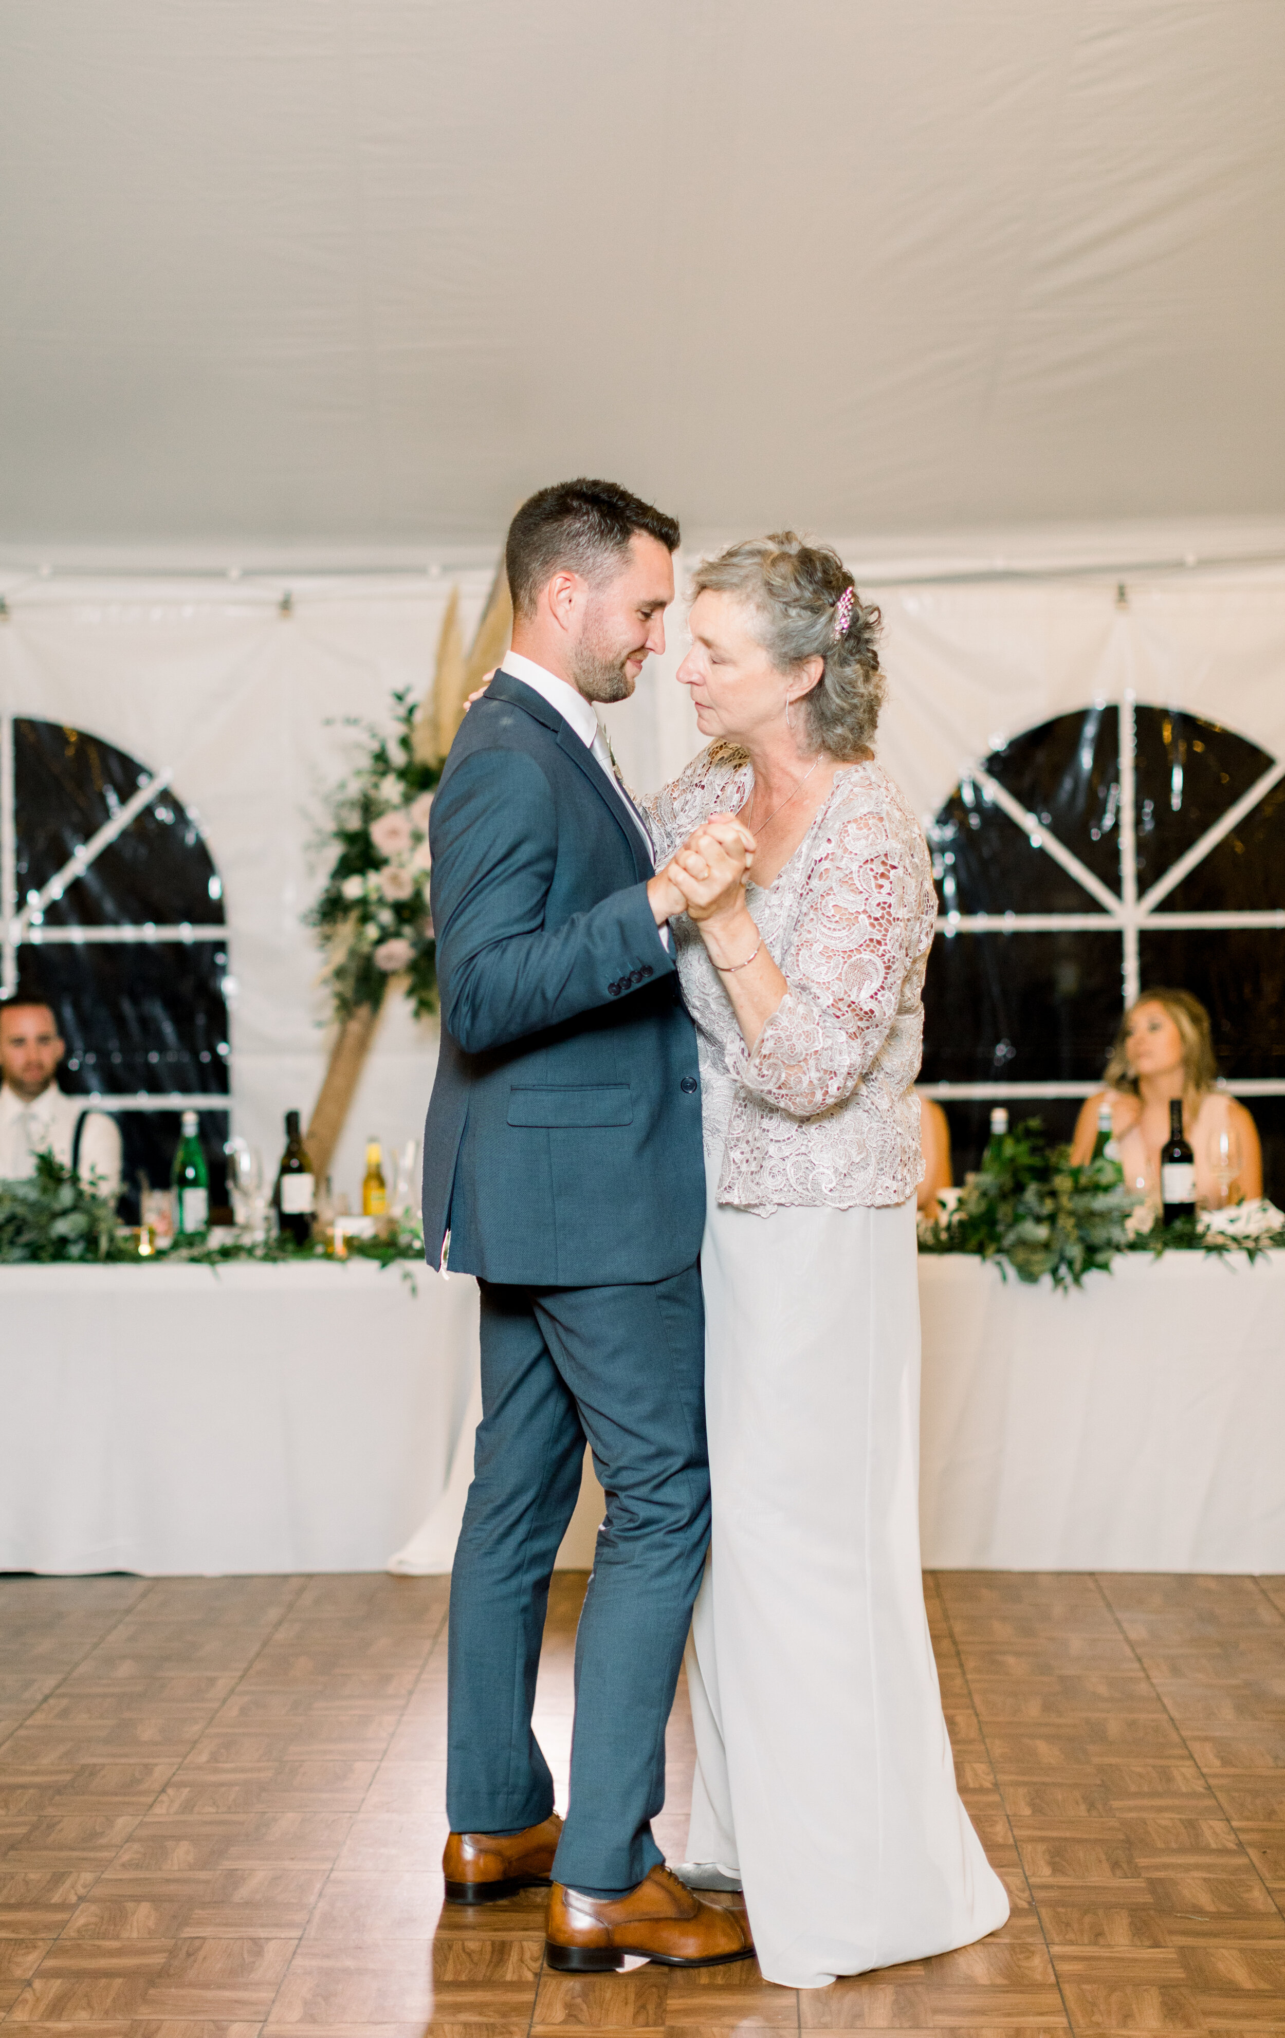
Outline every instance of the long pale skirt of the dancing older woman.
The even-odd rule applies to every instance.
[[[924,1612],[914,1202],[712,1202],[702,1278],[714,1535],[687,1859],[738,1865],[763,1975],[814,1989],[1008,1918]]]

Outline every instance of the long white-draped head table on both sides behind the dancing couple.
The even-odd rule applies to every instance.
[[[926,1565],[1285,1571],[1285,1253],[1126,1257],[1069,1296],[922,1257],[920,1306]],[[449,1565],[469,1278],[20,1266],[0,1325],[0,1569]],[[600,1506],[589,1471],[561,1563]]]

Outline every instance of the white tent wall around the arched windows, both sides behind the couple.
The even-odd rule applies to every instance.
[[[1254,544],[1269,548],[1273,536],[1283,534],[1256,530]],[[1024,542],[1012,536],[1008,556]],[[1083,579],[906,585],[916,562],[895,548],[877,556],[867,540],[844,552],[885,618],[879,748],[924,817],[1006,736],[1126,689],[1285,752],[1285,565],[1124,575],[1120,605],[1116,567]],[[997,552],[1006,544],[971,562],[983,569]],[[1101,532],[1095,556],[1140,558],[1146,548],[1138,534]],[[955,550],[950,565],[967,571],[967,552]],[[394,689],[424,693],[455,583],[471,630],[490,585],[477,567],[300,575],[290,615],[279,613],[279,585],[214,593],[208,579],[0,575],[0,709],[90,730],[145,766],[169,766],[175,795],[200,819],[224,882],[237,982],[235,1127],[269,1160],[281,1111],[310,1107],[326,1058],[318,952],[302,913],[322,870],[310,842],[353,754],[343,717],[386,723]],[[616,754],[640,789],[700,744],[673,681],[681,648],[675,613],[665,658],[649,664],[634,701],[610,711]],[[398,1003],[335,1158],[339,1190],[355,1192],[367,1133],[396,1141],[420,1131],[432,1066],[434,1027]]]

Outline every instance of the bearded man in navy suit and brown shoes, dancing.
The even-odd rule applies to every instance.
[[[696,1033],[596,703],[665,650],[673,518],[610,481],[512,522],[514,648],[432,801],[443,1045],[424,1241],[481,1288],[475,1476],[451,1575],[447,1895],[553,1881],[549,1961],[747,1959],[663,1867],[665,1722],[710,1535]],[[565,1824],[530,1728],[585,1437],[606,1492],[575,1641]]]

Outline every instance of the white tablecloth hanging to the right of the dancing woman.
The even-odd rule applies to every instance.
[[[1285,1571],[1285,1253],[1083,1292],[920,1259],[924,1563]]]

